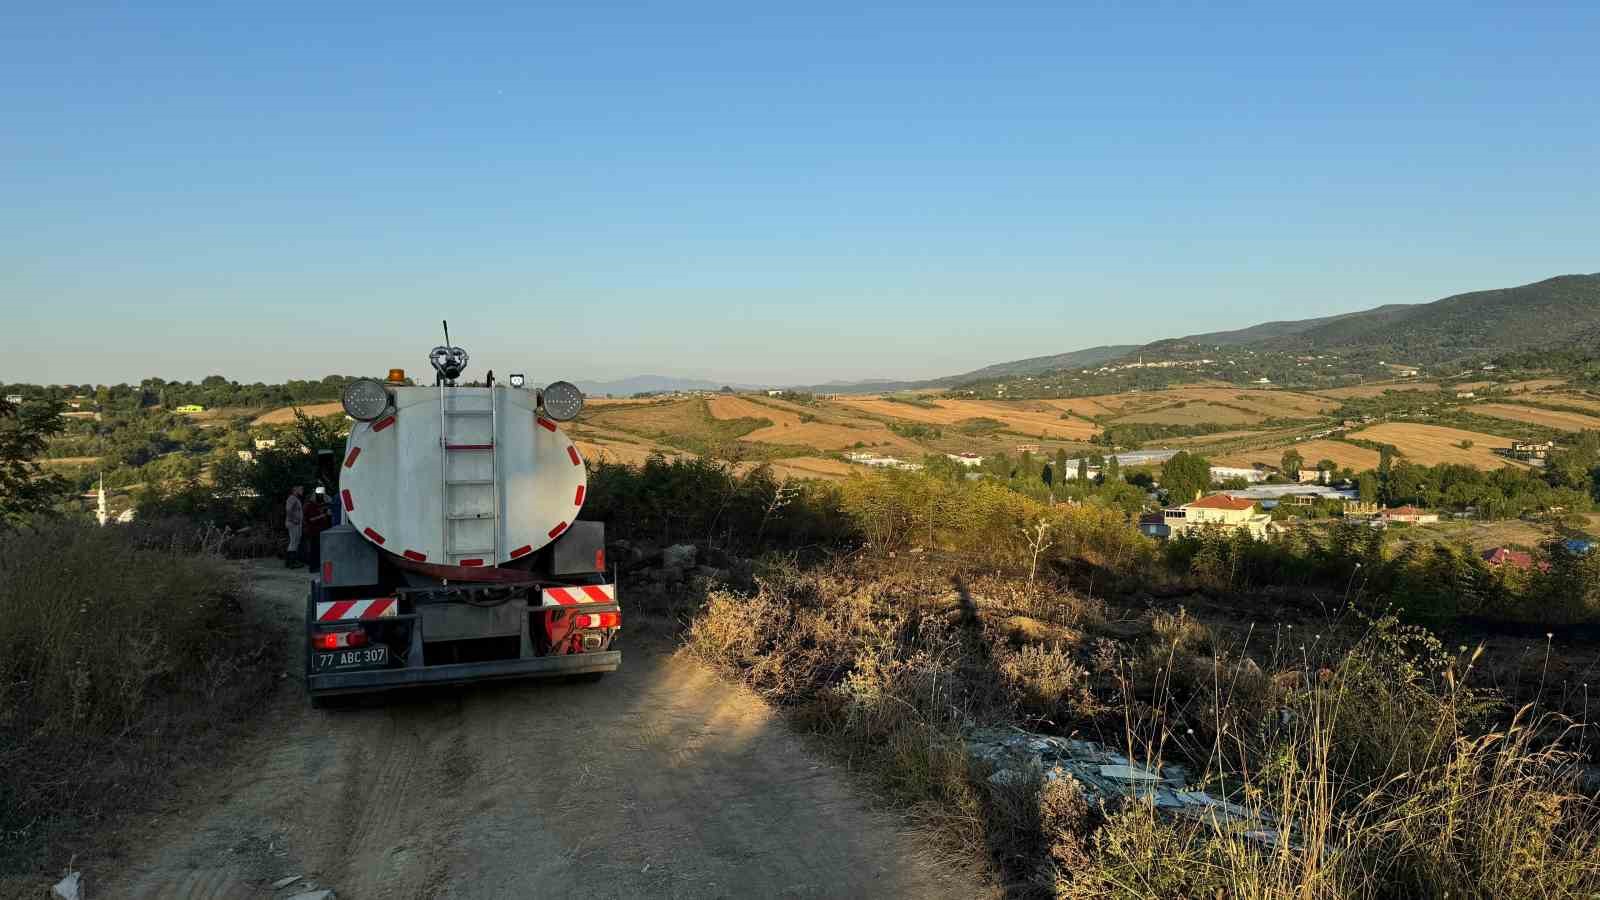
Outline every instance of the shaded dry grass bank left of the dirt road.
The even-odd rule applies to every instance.
[[[214,753],[282,671],[218,535],[53,522],[0,535],[0,876]]]

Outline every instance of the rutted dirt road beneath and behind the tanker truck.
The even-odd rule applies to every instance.
[[[304,575],[253,569],[293,629]],[[626,607],[624,607],[626,609]],[[630,623],[632,625],[632,623]],[[754,697],[626,633],[598,684],[507,682],[310,709],[165,804],[96,897],[974,897]]]

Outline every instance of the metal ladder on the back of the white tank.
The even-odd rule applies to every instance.
[[[467,394],[438,386],[440,509],[445,564],[498,565],[499,514],[499,386],[490,383],[488,408]]]

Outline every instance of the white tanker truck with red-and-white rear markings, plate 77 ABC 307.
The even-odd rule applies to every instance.
[[[544,389],[458,386],[461,348],[434,348],[435,384],[360,380],[338,460],[342,522],[322,533],[306,602],[306,687],[331,695],[496,677],[598,679],[622,663],[605,525],[579,522],[587,472],[557,423],[582,408]]]

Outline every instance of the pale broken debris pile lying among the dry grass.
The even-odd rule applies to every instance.
[[[1205,822],[1218,831],[1242,834],[1277,846],[1283,839],[1272,814],[1251,812],[1206,791],[1190,790],[1194,780],[1182,765],[1146,765],[1106,745],[1024,732],[1022,729],[978,729],[968,733],[966,749],[992,767],[989,780],[1013,785],[1042,772],[1046,781],[1072,778],[1091,804],[1117,809],[1130,801],[1150,804],[1157,812]]]

